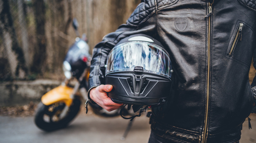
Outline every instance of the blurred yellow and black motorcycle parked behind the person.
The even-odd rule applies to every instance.
[[[91,55],[86,36],[79,38],[77,21],[73,20],[77,37],[69,48],[63,62],[65,80],[41,98],[34,116],[36,126],[44,131],[66,127],[78,114],[81,101],[87,99],[87,88]],[[75,84],[74,84],[75,80]],[[73,82],[73,84],[72,84]],[[81,92],[85,91],[85,92]],[[117,116],[119,111],[108,112],[97,104],[90,104],[93,111],[101,116]]]

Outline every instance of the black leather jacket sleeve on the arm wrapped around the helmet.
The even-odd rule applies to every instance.
[[[89,91],[93,87],[105,84],[107,56],[118,41],[133,34],[146,34],[153,38],[155,37],[157,34],[157,17],[156,6],[154,4],[153,0],[141,2],[129,17],[126,24],[120,25],[115,32],[104,36],[103,40],[94,47],[88,84]]]

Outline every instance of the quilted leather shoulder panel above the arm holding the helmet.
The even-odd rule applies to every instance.
[[[173,5],[178,0],[142,0],[126,21],[127,24],[138,26],[158,10]]]

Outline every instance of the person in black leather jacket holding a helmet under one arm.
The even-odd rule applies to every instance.
[[[121,39],[146,34],[166,48],[173,68],[173,98],[152,109],[149,142],[239,142],[256,96],[256,78],[248,80],[255,31],[256,0],[142,0],[95,46],[88,98],[108,111],[122,105],[104,85],[108,53]]]

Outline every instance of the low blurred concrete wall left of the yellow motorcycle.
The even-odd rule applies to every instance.
[[[39,79],[0,83],[0,106],[39,102],[42,95],[57,87],[61,81]]]

